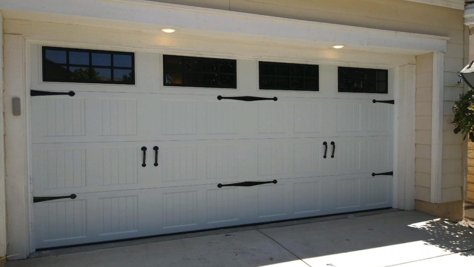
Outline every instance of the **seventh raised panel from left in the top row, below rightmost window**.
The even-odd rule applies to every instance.
[[[360,104],[337,104],[337,132],[360,132]]]

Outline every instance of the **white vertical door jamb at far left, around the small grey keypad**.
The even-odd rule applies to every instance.
[[[25,39],[4,35],[5,174],[7,191],[7,254],[26,258],[29,242],[29,182],[27,166],[27,90]],[[12,98],[18,97],[21,115],[12,114]]]

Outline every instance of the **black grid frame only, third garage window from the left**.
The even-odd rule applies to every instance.
[[[275,66],[275,73],[273,75],[263,74],[262,65],[273,65]],[[289,67],[289,75],[277,75],[276,74],[276,66],[287,66]],[[292,76],[291,74],[291,67],[292,66],[299,66],[303,67],[303,76]],[[316,75],[315,76],[307,76],[305,67],[316,67]],[[289,87],[277,87],[276,82],[274,82],[273,87],[265,87],[263,86],[263,77],[273,77],[276,81],[277,78],[288,78],[289,79]],[[299,78],[303,79],[303,88],[294,88],[292,87],[292,78]],[[313,85],[316,87],[306,87],[307,80],[306,79],[314,79],[316,80]],[[319,65],[317,64],[298,64],[298,63],[286,63],[286,62],[271,62],[271,61],[258,61],[258,88],[259,90],[274,90],[274,91],[303,91],[303,92],[319,92]]]

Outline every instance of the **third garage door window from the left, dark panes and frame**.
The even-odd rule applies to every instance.
[[[319,66],[258,62],[260,90],[319,91]]]

